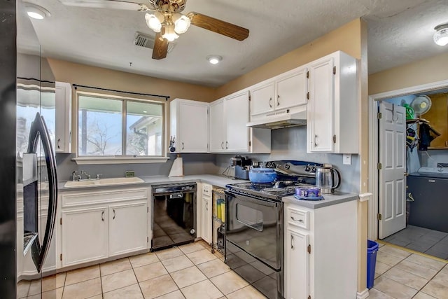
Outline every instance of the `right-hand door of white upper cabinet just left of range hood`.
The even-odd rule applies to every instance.
[[[231,152],[247,152],[249,150],[248,92],[225,99],[225,123],[227,139],[225,149]]]

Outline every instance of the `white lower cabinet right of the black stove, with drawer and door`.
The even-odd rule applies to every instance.
[[[285,204],[285,298],[356,299],[357,208]]]

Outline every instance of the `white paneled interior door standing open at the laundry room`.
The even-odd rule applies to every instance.
[[[379,102],[379,239],[406,227],[405,108]]]

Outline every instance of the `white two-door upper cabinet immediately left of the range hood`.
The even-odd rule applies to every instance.
[[[270,131],[251,129],[248,90],[210,104],[210,151],[212,153],[269,153]]]

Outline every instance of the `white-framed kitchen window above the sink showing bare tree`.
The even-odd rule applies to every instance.
[[[78,92],[78,158],[162,157],[164,104]]]

